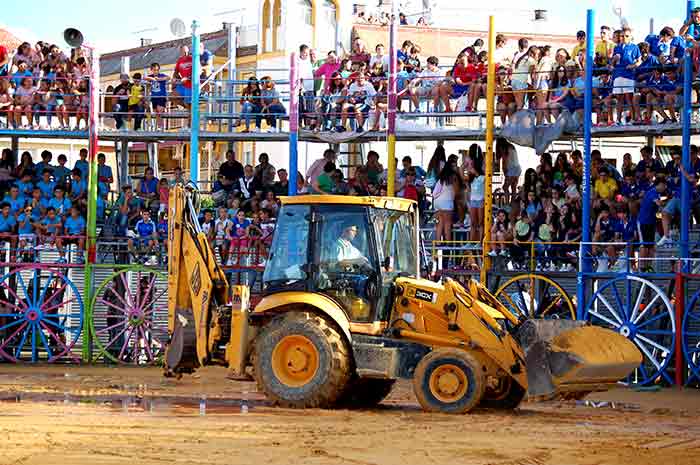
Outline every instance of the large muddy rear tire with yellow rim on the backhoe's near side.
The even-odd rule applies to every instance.
[[[310,312],[280,315],[256,338],[253,366],[258,388],[283,407],[330,408],[351,375],[342,335]]]

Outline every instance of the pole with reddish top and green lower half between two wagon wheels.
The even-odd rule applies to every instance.
[[[98,63],[99,55],[94,48],[90,49],[90,109],[89,109],[89,140],[88,140],[88,214],[87,214],[87,240],[85,260],[85,318],[83,318],[83,361],[92,359],[92,294],[93,294],[93,265],[95,264],[97,241],[97,112],[99,108],[99,93],[97,80],[99,79]]]

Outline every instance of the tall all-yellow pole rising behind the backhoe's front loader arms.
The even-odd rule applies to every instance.
[[[486,76],[486,158],[484,160],[484,241],[482,247],[481,282],[487,284],[486,276],[491,267],[488,255],[488,245],[491,240],[491,224],[493,223],[493,121],[496,117],[496,63],[493,55],[496,52],[496,30],[493,16],[489,16],[489,68]]]

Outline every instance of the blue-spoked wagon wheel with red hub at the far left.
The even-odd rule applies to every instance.
[[[0,278],[0,358],[79,360],[72,349],[83,328],[83,301],[73,282],[44,267],[16,268]]]

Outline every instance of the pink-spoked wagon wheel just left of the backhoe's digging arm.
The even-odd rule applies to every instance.
[[[93,360],[150,365],[162,355],[167,337],[167,276],[141,266],[107,278],[93,297]]]

